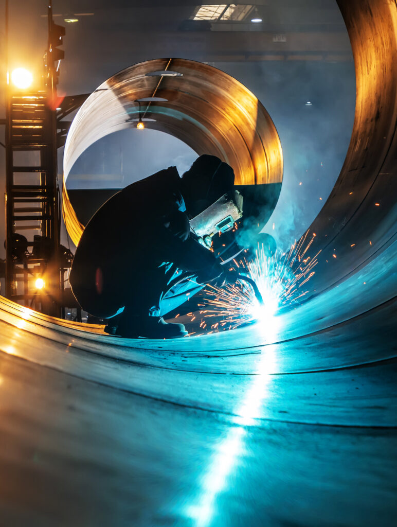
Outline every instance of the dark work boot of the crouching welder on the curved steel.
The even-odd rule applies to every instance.
[[[180,338],[187,335],[183,324],[168,324],[163,317],[123,317],[116,335],[123,338]]]

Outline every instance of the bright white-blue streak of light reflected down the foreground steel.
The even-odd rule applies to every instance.
[[[264,327],[259,322],[253,326],[254,331],[265,334],[267,341],[272,341],[278,329],[279,319],[276,311],[273,313],[271,324],[266,324]],[[262,348],[257,363],[254,378],[233,412],[233,424],[226,436],[215,446],[209,469],[201,478],[198,500],[186,509],[186,515],[193,520],[195,527],[207,527],[211,524],[216,511],[217,496],[226,488],[228,477],[246,451],[245,441],[249,427],[255,423],[255,419],[262,417],[263,405],[269,404],[270,375],[274,372],[276,363],[274,344]]]

